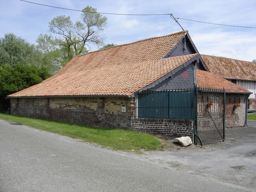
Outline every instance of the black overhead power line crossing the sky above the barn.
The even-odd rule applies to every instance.
[[[174,18],[172,13],[160,13],[160,14],[125,14],[125,13],[105,13],[105,12],[92,12],[92,11],[84,11],[84,10],[77,10],[77,9],[68,9],[68,8],[63,8],[63,7],[56,7],[56,6],[50,6],[50,5],[44,5],[40,3],[34,3],[31,1],[25,1],[25,0],[20,0],[24,1],[27,3],[32,3],[35,5],[41,5],[45,7],[53,7],[57,9],[65,9],[65,10],[73,10],[73,11],[80,11],[80,12],[87,12],[87,13],[100,13],[100,14],[107,14],[107,15],[134,15],[134,16],[152,16],[152,15],[170,15],[170,17],[178,23],[178,19],[181,20],[188,20],[188,21],[194,21],[194,22],[199,22],[199,23],[207,23],[207,24],[212,24],[212,25],[220,25],[220,26],[229,26],[229,27],[243,27],[243,28],[256,28],[256,27],[245,27],[245,26],[235,26],[235,25],[226,25],[226,24],[218,24],[218,23],[208,23],[208,22],[203,22],[203,21],[196,21],[196,20],[190,20],[190,19],[185,19],[185,18]],[[178,23],[179,24],[179,23]],[[179,26],[181,26],[179,24]],[[182,28],[182,27],[181,27]]]

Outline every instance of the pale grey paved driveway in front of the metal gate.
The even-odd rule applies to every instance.
[[[248,125],[226,129],[224,142],[182,149],[173,144],[166,151],[145,151],[134,158],[256,191],[256,121]]]

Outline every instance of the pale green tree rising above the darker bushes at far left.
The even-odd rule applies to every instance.
[[[0,38],[1,65],[45,67],[52,74],[60,69],[47,54],[44,54],[35,45],[12,33],[5,34],[4,37]]]

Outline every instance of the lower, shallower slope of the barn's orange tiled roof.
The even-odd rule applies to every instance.
[[[120,63],[87,63],[76,57],[59,74],[35,86],[9,96],[56,95],[132,95],[153,83],[197,54],[127,65]],[[72,65],[71,65],[72,64]]]

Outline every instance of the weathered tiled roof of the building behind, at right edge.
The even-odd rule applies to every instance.
[[[210,72],[225,79],[256,81],[256,63],[202,54],[201,57]]]

